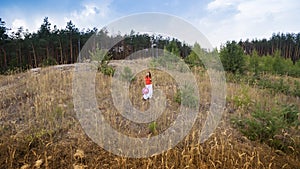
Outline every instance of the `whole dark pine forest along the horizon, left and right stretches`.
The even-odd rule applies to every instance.
[[[51,25],[48,17],[45,17],[37,32],[20,27],[16,32],[9,33],[5,20],[0,18],[0,73],[74,63],[85,42],[96,32],[107,38],[116,38],[109,36],[105,28],[100,31],[97,28],[80,31],[72,21],[67,22],[65,29],[58,29],[56,25],[51,29]],[[185,59],[193,48],[191,44],[174,38],[139,34],[134,30],[130,34],[116,36],[121,36],[123,40],[116,44],[117,48],[111,49],[112,59],[123,59],[131,53],[153,46],[164,49],[171,42],[176,44],[180,56]],[[237,44],[242,47],[243,54],[249,56],[253,53],[260,57],[274,56],[280,51],[280,57],[291,60],[294,65],[300,58],[300,33],[274,33],[269,39],[240,40]]]

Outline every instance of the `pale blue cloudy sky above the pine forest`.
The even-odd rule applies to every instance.
[[[145,12],[179,17],[219,48],[227,41],[269,39],[300,32],[299,0],[2,0],[0,18],[11,28],[37,32],[45,17],[64,29],[98,29],[119,18]]]

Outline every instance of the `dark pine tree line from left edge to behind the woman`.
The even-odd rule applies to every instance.
[[[112,59],[124,59],[131,53],[146,49],[160,48],[174,42],[180,49],[180,55],[185,57],[191,51],[190,46],[177,39],[165,38],[161,35],[135,33],[129,35],[109,36],[107,30],[97,28],[79,31],[72,23],[67,22],[65,29],[58,29],[56,25],[51,29],[48,17],[45,17],[39,30],[31,33],[23,27],[8,34],[9,28],[0,18],[0,73],[7,71],[22,71],[30,68],[54,64],[70,64],[77,61],[79,52],[87,40],[95,33],[101,33],[105,38],[122,39],[109,53]]]

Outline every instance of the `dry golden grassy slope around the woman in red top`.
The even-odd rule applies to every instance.
[[[202,73],[201,73],[202,72]],[[203,71],[194,71],[201,95],[200,125],[208,111],[210,99],[209,79]],[[130,98],[140,109],[149,108],[140,98],[143,84],[141,72],[130,85]],[[148,125],[133,124],[120,119],[110,97],[104,90],[110,77],[97,74],[97,101],[106,110],[111,125],[135,137],[151,136]],[[178,103],[174,102],[176,86],[167,74],[153,70],[154,89],[166,92],[168,106],[157,120],[158,133],[163,132],[176,117]],[[26,72],[1,76],[0,96],[0,168],[299,168],[299,157],[282,154],[267,145],[249,141],[230,125],[230,117],[248,113],[253,102],[276,101],[295,103],[299,98],[268,92],[240,84],[228,84],[228,106],[215,133],[202,144],[195,141],[199,129],[176,147],[150,158],[132,159],[115,156],[90,140],[76,119],[72,102],[72,71],[45,68],[39,74]],[[251,96],[249,105],[236,107],[234,97]],[[174,115],[175,114],[175,115]],[[117,118],[118,117],[118,118]],[[169,118],[173,117],[173,118]],[[137,132],[139,131],[139,132]],[[139,134],[137,134],[139,133]],[[299,133],[296,133],[299,134]]]

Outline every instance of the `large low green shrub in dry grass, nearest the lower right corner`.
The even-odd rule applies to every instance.
[[[289,147],[295,146],[295,142],[283,131],[299,125],[298,112],[295,105],[282,105],[270,111],[258,106],[250,117],[233,118],[232,123],[250,140],[287,152]]]

